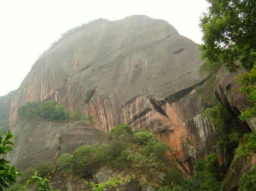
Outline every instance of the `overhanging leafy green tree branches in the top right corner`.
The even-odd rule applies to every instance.
[[[207,2],[210,3],[209,12],[201,18],[203,59],[212,64],[223,63],[230,71],[241,67],[251,69],[256,59],[256,2]]]

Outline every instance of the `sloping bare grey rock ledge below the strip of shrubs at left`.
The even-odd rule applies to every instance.
[[[86,122],[20,120],[13,130],[15,148],[8,159],[20,170],[44,162],[55,162],[63,153],[81,145],[106,143],[108,137]]]

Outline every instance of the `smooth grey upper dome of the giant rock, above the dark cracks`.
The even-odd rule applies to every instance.
[[[143,15],[94,21],[36,62],[13,97],[10,125],[26,102],[53,98],[71,109],[92,112],[86,104],[93,98],[100,128],[108,131],[129,120],[129,111],[117,101],[129,102],[142,94],[159,100],[178,93],[203,80],[197,72],[200,64],[197,44],[166,21]],[[123,113],[114,111],[114,104]]]

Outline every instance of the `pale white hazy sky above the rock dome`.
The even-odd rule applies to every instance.
[[[1,0],[0,96],[17,89],[37,57],[81,23],[143,14],[166,20],[201,43],[199,16],[207,5],[205,0]]]

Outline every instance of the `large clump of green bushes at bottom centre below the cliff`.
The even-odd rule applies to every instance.
[[[154,173],[167,171],[173,165],[166,157],[171,148],[149,131],[133,133],[127,124],[119,124],[111,130],[110,136],[108,144],[84,145],[72,155],[61,155],[57,161],[58,170],[85,178],[102,167],[117,171],[129,169],[142,185],[156,186],[159,179],[155,180]]]

